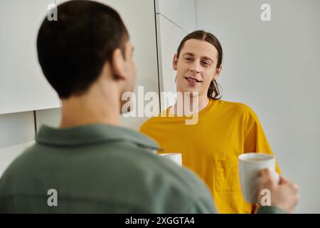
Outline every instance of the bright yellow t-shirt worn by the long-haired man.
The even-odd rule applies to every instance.
[[[140,131],[159,143],[161,152],[181,152],[182,163],[210,188],[219,213],[252,213],[240,190],[238,155],[272,154],[265,133],[251,108],[242,103],[210,99],[198,113],[198,123],[188,117],[154,117]],[[161,153],[160,152],[160,153]],[[279,166],[276,170],[280,173]]]

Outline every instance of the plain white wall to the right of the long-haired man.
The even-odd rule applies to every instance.
[[[260,6],[271,6],[271,21]],[[300,187],[298,213],[320,212],[320,1],[197,0],[198,28],[224,49],[223,99],[257,113],[282,174]]]

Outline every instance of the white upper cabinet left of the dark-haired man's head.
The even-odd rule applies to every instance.
[[[0,1],[0,114],[60,106],[36,54],[38,28],[50,3]]]

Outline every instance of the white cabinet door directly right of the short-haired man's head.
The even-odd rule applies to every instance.
[[[134,88],[137,97],[138,86],[143,86],[144,93],[149,91],[159,93],[154,1],[99,0],[99,2],[117,10],[127,26],[134,46],[134,62],[137,66],[137,83]],[[139,96],[141,95],[139,94]],[[137,107],[137,103],[135,107]],[[137,114],[137,109],[133,111]],[[122,117],[122,124],[129,128],[138,129],[146,119],[146,116],[140,118]]]

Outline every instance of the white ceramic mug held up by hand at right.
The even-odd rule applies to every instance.
[[[259,172],[270,168],[273,176],[279,182],[279,175],[275,172],[275,157],[260,152],[247,152],[239,155],[239,177],[241,192],[245,201],[257,203],[261,176]]]

